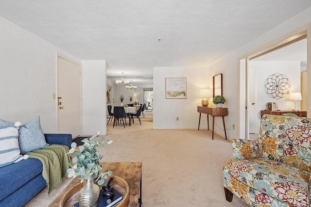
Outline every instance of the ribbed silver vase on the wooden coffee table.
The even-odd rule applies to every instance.
[[[79,207],[96,207],[99,192],[99,186],[94,184],[92,177],[89,177],[83,188],[79,191]]]

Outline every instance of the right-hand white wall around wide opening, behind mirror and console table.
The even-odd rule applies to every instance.
[[[253,40],[247,45],[239,48],[238,50],[224,56],[216,63],[211,64],[209,66],[211,76],[209,76],[209,81],[212,80],[212,74],[223,73],[224,74],[224,96],[226,97],[226,107],[228,108],[228,116],[225,117],[226,126],[231,126],[232,124],[239,123],[239,106],[238,106],[238,98],[239,98],[239,69],[238,63],[240,57],[245,54],[258,49],[259,47],[266,45],[279,37],[282,37],[308,23],[311,22],[311,7],[302,11],[296,16],[288,19],[282,24],[278,25],[276,28],[272,29],[269,32],[261,35],[259,38]],[[221,126],[220,120],[217,120],[217,124]],[[238,126],[239,127],[239,126]],[[236,128],[238,128],[236,127]],[[219,129],[215,129],[216,133],[223,132]],[[243,134],[244,132],[241,132]],[[238,137],[238,130],[229,130],[227,131],[227,135],[230,138]],[[241,136],[240,136],[241,137]],[[238,137],[238,138],[240,138]]]

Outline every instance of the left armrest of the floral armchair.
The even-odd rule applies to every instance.
[[[255,159],[262,156],[262,140],[232,139],[233,159]]]

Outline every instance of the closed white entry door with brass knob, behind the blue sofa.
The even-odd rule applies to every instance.
[[[80,65],[63,56],[57,56],[57,122],[58,133],[81,131]]]

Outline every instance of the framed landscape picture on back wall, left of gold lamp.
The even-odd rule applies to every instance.
[[[165,78],[166,98],[187,98],[187,78]]]

